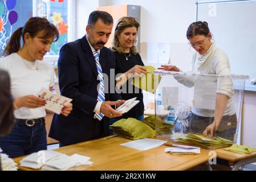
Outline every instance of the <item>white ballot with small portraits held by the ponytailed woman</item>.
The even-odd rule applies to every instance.
[[[44,109],[48,109],[57,114],[61,113],[62,107],[66,106],[72,101],[71,98],[54,94],[50,90],[47,90],[46,88],[42,88],[38,92],[38,94],[36,94],[36,96],[46,100],[46,105],[43,106]]]

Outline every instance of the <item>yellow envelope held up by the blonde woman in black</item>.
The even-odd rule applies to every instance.
[[[155,93],[161,81],[161,75],[152,74],[152,72],[156,70],[156,68],[152,66],[145,66],[145,68],[147,69],[147,75],[133,78],[131,84],[147,92]]]

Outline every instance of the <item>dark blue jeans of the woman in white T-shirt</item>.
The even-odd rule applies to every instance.
[[[10,134],[0,137],[0,146],[10,158],[47,150],[45,122],[32,127],[15,125]]]

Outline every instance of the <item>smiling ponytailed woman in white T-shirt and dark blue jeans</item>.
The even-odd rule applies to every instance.
[[[3,51],[6,57],[0,60],[0,68],[10,74],[16,119],[13,130],[0,137],[0,143],[3,152],[11,158],[47,149],[46,110],[42,107],[46,100],[36,94],[41,88],[52,90],[55,84],[54,68],[42,60],[58,37],[54,24],[45,18],[32,17],[13,32]],[[71,110],[72,104],[68,104],[62,114],[67,116]]]

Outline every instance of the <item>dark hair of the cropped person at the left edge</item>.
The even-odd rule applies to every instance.
[[[14,125],[13,99],[10,91],[10,77],[0,69],[0,136],[10,133]]]

